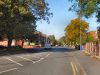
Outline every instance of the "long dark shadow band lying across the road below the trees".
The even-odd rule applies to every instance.
[[[0,56],[5,55],[15,55],[15,54],[25,54],[25,53],[40,53],[40,52],[72,52],[76,51],[72,48],[29,48],[29,49],[12,49],[12,50],[0,50]]]

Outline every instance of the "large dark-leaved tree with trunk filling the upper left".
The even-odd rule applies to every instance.
[[[45,0],[1,0],[0,36],[12,39],[26,39],[34,33],[36,21],[43,19],[49,23],[48,3]]]

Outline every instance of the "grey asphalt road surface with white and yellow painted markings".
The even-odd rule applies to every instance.
[[[100,75],[100,59],[68,48],[0,56],[0,75]]]

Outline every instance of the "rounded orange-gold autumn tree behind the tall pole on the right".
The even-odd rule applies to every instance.
[[[80,29],[81,27],[81,29]],[[80,44],[80,35],[82,37],[82,43],[86,39],[86,33],[89,28],[89,24],[80,18],[71,20],[71,22],[65,28],[66,40],[71,45]]]

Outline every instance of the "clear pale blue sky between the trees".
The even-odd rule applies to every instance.
[[[55,35],[56,39],[64,36],[64,29],[70,23],[72,19],[77,18],[75,12],[68,11],[71,6],[71,2],[68,0],[46,0],[49,3],[50,12],[53,13],[53,17],[50,18],[50,24],[45,21],[37,22],[37,30],[43,34]],[[90,25],[89,30],[96,30],[98,24],[95,16],[89,19],[84,19]]]

